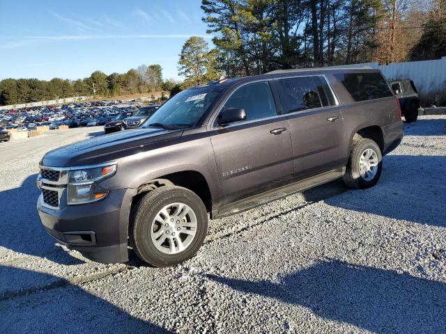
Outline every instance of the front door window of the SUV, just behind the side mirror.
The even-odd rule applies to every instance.
[[[238,88],[223,108],[225,110],[245,109],[247,121],[277,116],[270,85],[266,81],[254,82]]]

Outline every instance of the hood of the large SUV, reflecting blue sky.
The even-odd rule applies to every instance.
[[[47,152],[40,164],[71,167],[116,160],[153,148],[153,143],[178,138],[183,130],[134,129],[79,141]]]

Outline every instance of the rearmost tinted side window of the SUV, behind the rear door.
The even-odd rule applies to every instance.
[[[391,97],[392,92],[380,73],[334,74],[356,102]]]

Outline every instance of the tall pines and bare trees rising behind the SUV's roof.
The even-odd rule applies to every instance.
[[[446,56],[445,0],[202,0],[229,77]],[[429,10],[426,10],[429,8]]]

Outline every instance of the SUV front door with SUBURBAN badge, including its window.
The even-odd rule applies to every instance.
[[[289,123],[277,115],[268,81],[236,88],[219,113],[232,108],[245,109],[246,120],[226,127],[214,121],[210,131],[222,187],[220,205],[275,188],[293,174]]]

